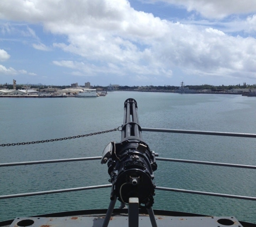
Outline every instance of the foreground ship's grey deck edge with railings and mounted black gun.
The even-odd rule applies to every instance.
[[[179,193],[193,193],[200,195],[230,197],[254,201],[256,200],[256,197],[207,193],[204,191],[164,188],[159,186],[156,187],[154,183],[154,171],[157,170],[157,160],[251,169],[256,169],[256,166],[160,158],[157,154],[151,151],[148,144],[143,141],[142,130],[251,138],[256,138],[256,134],[141,128],[137,114],[137,103],[133,98],[129,98],[124,102],[123,124],[119,127],[118,130],[121,131],[120,143],[115,143],[113,141],[110,142],[103,150],[102,157],[82,158],[82,160],[99,159],[101,160],[101,164],[106,164],[108,168],[108,174],[110,176],[109,185],[0,196],[0,199],[2,200],[13,197],[36,196],[51,193],[65,193],[66,191],[110,188],[110,202],[107,209],[67,211],[33,217],[17,217],[10,221],[0,222],[0,226],[256,226],[256,224],[253,223],[239,222],[233,216],[214,217],[176,211],[153,210],[155,190],[177,191]],[[65,161],[77,161],[77,159],[45,160],[34,161],[33,163],[15,162],[9,164],[0,164],[0,167],[14,165],[36,165]],[[120,201],[120,207],[119,209],[114,209],[117,200]]]

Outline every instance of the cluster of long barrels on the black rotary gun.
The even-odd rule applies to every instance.
[[[142,138],[141,132],[142,130],[137,113],[137,102],[133,98],[128,98],[124,102],[122,140],[130,137],[140,140],[140,138]]]

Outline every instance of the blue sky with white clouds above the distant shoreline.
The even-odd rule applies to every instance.
[[[254,0],[1,0],[0,84],[256,83]]]

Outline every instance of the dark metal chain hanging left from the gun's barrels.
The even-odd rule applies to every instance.
[[[61,141],[61,140],[75,139],[75,138],[80,138],[80,137],[95,136],[95,135],[98,135],[98,134],[114,132],[114,131],[120,131],[120,128],[121,128],[121,126],[117,127],[116,129],[110,129],[110,130],[101,131],[101,132],[94,132],[94,133],[84,134],[84,135],[80,135],[80,136],[64,137],[64,138],[59,138],[59,139],[46,139],[46,140],[38,140],[38,141],[32,141],[32,142],[26,142],[26,143],[16,143],[16,144],[15,143],[12,143],[12,144],[0,144],[0,147],[16,146],[16,145],[27,145],[27,144],[49,143],[49,142],[53,142],[53,141]]]

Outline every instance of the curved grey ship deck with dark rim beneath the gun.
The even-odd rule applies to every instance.
[[[101,210],[84,210],[61,212],[49,215],[40,215],[36,217],[17,217],[14,220],[0,223],[1,227],[33,226],[33,227],[101,227],[103,225],[106,209]],[[239,222],[235,217],[212,217],[197,214],[188,214],[183,212],[154,210],[156,224],[158,227],[176,226],[176,227],[193,227],[193,226],[237,226],[237,227],[255,227],[255,224]],[[108,226],[136,226],[137,220],[129,219],[128,209],[114,209]],[[132,222],[135,222],[133,224]],[[125,223],[125,224],[124,224]],[[150,217],[147,212],[140,210],[139,226],[152,226]]]

